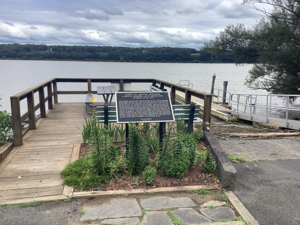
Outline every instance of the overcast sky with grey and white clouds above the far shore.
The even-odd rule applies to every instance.
[[[199,49],[226,25],[254,25],[242,0],[1,0],[0,43]]]

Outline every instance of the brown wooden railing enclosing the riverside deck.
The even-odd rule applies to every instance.
[[[87,83],[86,91],[63,91],[57,90],[57,83]],[[160,88],[169,87],[171,89],[171,102],[175,105],[176,90],[185,93],[185,104],[191,103],[191,97],[195,96],[204,99],[204,115],[203,121],[211,120],[211,101],[212,95],[204,92],[196,91],[191,88],[183,87],[178,84],[158,80],[158,79],[98,79],[98,78],[52,78],[32,88],[22,91],[14,96],[11,96],[11,114],[13,121],[14,145],[22,145],[22,126],[21,123],[29,119],[29,129],[36,129],[35,111],[40,109],[41,118],[46,118],[46,102],[48,109],[53,109],[53,103],[58,103],[58,95],[62,94],[97,94],[97,91],[92,90],[92,83],[118,83],[119,92],[124,91],[125,83],[149,83],[152,85],[160,85]],[[47,96],[45,97],[44,88],[47,87]],[[34,104],[34,93],[39,93],[39,103]],[[21,115],[20,101],[27,99],[27,112]]]

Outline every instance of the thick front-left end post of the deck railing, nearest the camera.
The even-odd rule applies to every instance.
[[[12,127],[14,133],[14,145],[21,146],[23,142],[22,142],[20,99],[18,97],[11,97],[10,103],[11,103]]]

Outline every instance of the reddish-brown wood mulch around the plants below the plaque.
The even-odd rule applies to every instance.
[[[121,143],[117,143],[121,146],[121,151],[125,151],[125,147]],[[197,147],[204,151],[205,144],[198,143]],[[79,153],[79,158],[85,157],[90,153],[88,146],[83,146],[81,144],[81,149]],[[150,158],[153,157],[150,154]],[[99,186],[93,187],[90,190],[84,191],[109,191],[109,190],[132,190],[137,188],[152,189],[159,187],[180,187],[180,186],[193,186],[193,185],[209,185],[215,188],[220,188],[221,184],[219,181],[218,173],[203,173],[200,166],[197,165],[181,179],[174,177],[163,176],[160,171],[157,171],[156,179],[152,185],[147,185],[143,183],[142,173],[137,175],[129,176],[125,172],[121,174],[118,179],[113,179],[108,184],[101,184]],[[75,190],[81,191],[81,190]]]

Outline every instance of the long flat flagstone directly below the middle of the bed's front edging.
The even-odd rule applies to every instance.
[[[187,197],[170,198],[165,196],[141,200],[141,205],[147,210],[159,210],[179,207],[194,207],[195,203]]]

